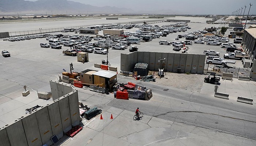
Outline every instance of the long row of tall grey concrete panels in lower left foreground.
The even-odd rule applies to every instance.
[[[51,84],[56,88],[52,91],[55,95],[71,88],[61,87],[65,85],[58,82]],[[63,137],[63,132],[66,133],[72,126],[79,125],[78,102],[78,91],[72,91],[20,117],[14,123],[7,124],[0,128],[0,146],[52,145],[50,138],[53,135],[57,135],[60,139]]]

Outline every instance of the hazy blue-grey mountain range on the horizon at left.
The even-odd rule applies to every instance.
[[[140,11],[129,8],[97,7],[68,0],[0,0],[0,15],[26,14],[179,14],[171,10]]]

